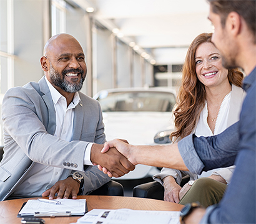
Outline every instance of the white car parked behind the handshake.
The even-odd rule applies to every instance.
[[[101,103],[107,141],[119,138],[135,145],[170,142],[175,91],[158,87],[116,88],[102,90],[94,98]],[[141,179],[158,172],[157,167],[137,165],[118,179]]]

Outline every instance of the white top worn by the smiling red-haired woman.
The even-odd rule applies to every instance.
[[[242,102],[244,100],[245,94],[246,93],[242,90],[242,88],[232,85],[232,91],[227,94],[222,100],[219,114],[216,118],[214,133],[212,133],[212,130],[210,129],[207,122],[208,109],[207,102],[205,101],[204,109],[200,113],[199,121],[193,133],[196,136],[212,136],[215,134],[220,134],[229,126],[239,121],[240,109],[242,108]],[[207,172],[202,172],[202,174],[200,175],[192,174],[189,171],[163,168],[159,174],[155,174],[153,176],[153,179],[157,182],[160,182],[160,184],[163,184],[162,179],[171,175],[176,179],[176,182],[180,184],[182,180],[182,175],[189,174],[190,180],[196,180],[200,177],[209,177],[209,175],[215,174],[221,175],[225,179],[227,184],[229,184],[232,174],[234,172],[234,168],[235,166],[209,170]]]

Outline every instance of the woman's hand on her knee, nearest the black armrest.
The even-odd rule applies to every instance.
[[[164,182],[164,200],[167,202],[179,203],[179,192],[182,189],[179,184],[176,183],[174,177],[167,176],[163,179]]]

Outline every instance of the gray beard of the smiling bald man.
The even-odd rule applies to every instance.
[[[57,73],[54,67],[52,67],[52,64],[50,63],[49,77],[51,79],[51,82],[57,87],[61,88],[63,91],[66,91],[67,93],[76,93],[77,91],[81,90],[82,84],[84,83],[84,72],[82,70],[79,70],[79,73],[81,73],[81,79],[79,83],[67,82],[67,80],[65,79],[65,74],[69,72],[71,72],[71,70],[69,70],[68,72],[63,71],[62,74]]]

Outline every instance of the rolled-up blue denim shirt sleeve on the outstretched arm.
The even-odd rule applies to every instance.
[[[197,138],[190,134],[178,142],[178,147],[185,165],[194,174],[232,166],[239,151],[239,123],[217,136]]]

